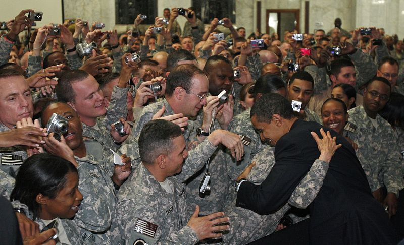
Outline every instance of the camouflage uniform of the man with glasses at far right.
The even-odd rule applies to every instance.
[[[378,128],[375,129],[363,106],[350,109],[348,113],[349,122],[355,124],[357,129],[355,133],[346,131],[347,136],[358,145],[373,172],[378,174],[381,185],[384,184],[387,192],[395,193],[398,197],[399,190],[404,186],[398,146],[388,143],[394,139],[391,126],[376,115]]]

